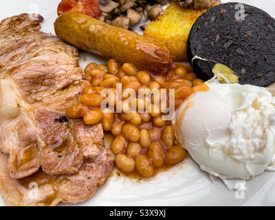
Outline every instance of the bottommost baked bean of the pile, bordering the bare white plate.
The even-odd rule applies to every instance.
[[[146,155],[138,155],[135,158],[135,168],[137,172],[144,177],[151,177],[154,173],[153,165],[151,165],[149,158]]]

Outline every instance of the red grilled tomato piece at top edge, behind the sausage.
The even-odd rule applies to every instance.
[[[98,8],[99,0],[62,0],[57,8],[57,14],[60,16],[65,12],[80,12],[91,17],[98,18],[101,11]]]

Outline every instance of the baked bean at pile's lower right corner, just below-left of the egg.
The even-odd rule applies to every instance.
[[[186,149],[180,146],[172,146],[165,153],[164,161],[166,164],[177,164],[186,157]]]

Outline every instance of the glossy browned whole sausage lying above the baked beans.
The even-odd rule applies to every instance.
[[[171,65],[166,47],[146,36],[107,25],[85,14],[66,12],[56,19],[54,28],[57,36],[80,49],[122,63],[133,63],[154,74],[167,72]]]

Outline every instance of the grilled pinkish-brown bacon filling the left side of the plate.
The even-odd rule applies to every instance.
[[[0,23],[0,192],[12,206],[84,201],[114,162],[102,124],[65,116],[84,84],[78,51],[39,32],[41,21],[20,14]]]

